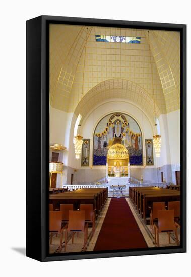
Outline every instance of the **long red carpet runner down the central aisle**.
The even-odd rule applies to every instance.
[[[147,247],[125,198],[112,198],[94,251]]]

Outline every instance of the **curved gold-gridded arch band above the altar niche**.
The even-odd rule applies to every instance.
[[[78,103],[75,113],[77,116],[80,113],[83,120],[85,115],[93,110],[97,104],[105,101],[105,99],[114,98],[136,103],[155,122],[153,98],[138,84],[123,79],[106,80],[93,87]],[[160,115],[157,105],[156,115]]]

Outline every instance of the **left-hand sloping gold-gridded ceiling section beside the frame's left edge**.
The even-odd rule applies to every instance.
[[[68,111],[77,64],[86,39],[85,26],[50,25],[50,104]]]

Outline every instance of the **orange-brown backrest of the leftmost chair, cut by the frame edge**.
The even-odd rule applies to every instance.
[[[49,231],[61,232],[61,222],[61,211],[49,211]]]

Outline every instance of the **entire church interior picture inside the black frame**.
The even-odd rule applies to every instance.
[[[50,24],[49,253],[180,245],[180,33]]]

